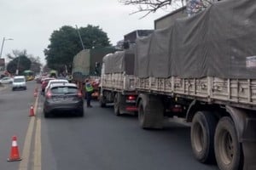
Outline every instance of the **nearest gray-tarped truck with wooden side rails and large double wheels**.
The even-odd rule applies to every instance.
[[[137,38],[135,90],[143,129],[190,122],[195,158],[256,169],[256,2],[226,0]]]

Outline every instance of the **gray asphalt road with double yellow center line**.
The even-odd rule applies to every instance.
[[[28,166],[45,170],[217,170],[196,161],[189,127],[167,123],[164,130],[143,130],[135,116],[114,116],[113,107],[84,107],[84,117],[54,116],[45,119],[44,97],[38,98],[34,123],[27,116],[35,82],[26,91],[0,89],[0,169],[22,169],[22,161],[7,162],[10,140],[18,135],[20,152],[31,145]],[[85,103],[84,103],[85,104]],[[85,105],[84,105],[85,106]],[[32,139],[27,135],[32,127]],[[29,143],[29,144],[26,144]],[[24,153],[20,153],[24,156]],[[36,163],[35,163],[36,162]],[[22,166],[21,166],[22,167]]]

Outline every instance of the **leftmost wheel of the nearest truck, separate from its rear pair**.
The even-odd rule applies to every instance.
[[[156,96],[143,95],[138,105],[140,127],[163,128],[164,106]]]

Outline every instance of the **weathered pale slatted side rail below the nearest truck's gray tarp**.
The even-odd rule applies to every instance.
[[[151,94],[181,96],[216,104],[236,104],[256,110],[256,79],[136,77],[135,88]]]

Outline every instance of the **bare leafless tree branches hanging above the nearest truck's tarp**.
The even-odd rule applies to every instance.
[[[191,6],[188,8],[188,14],[195,14],[207,8],[213,2],[219,0],[119,0],[119,3],[125,5],[137,5],[137,11],[131,13],[136,14],[139,12],[146,12],[143,17],[147,16],[150,13],[154,13],[159,9],[166,9],[171,5],[180,3],[181,7],[186,3],[189,3]],[[142,17],[142,18],[143,18]]]

